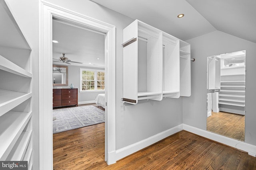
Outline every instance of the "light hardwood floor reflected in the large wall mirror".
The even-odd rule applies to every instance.
[[[244,115],[212,112],[212,116],[207,118],[207,130],[244,141]]]

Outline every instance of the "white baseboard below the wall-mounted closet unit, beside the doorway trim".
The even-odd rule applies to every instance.
[[[161,133],[158,133],[152,137],[149,137],[147,139],[144,139],[142,141],[139,141],[137,143],[134,143],[132,145],[129,145],[127,147],[121,148],[116,150],[116,160],[120,160],[121,158],[124,158],[134,152],[137,152],[138,150],[144,149],[145,147],[148,147],[170,135],[173,135],[174,133],[177,133],[179,131],[182,131],[183,125],[180,124],[176,127],[173,127],[171,129],[168,129],[166,131],[163,131]]]

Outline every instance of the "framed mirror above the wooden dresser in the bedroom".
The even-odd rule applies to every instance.
[[[52,85],[68,86],[68,66],[52,65]]]

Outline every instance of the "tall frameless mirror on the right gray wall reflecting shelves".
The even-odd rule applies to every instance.
[[[207,131],[244,141],[246,51],[207,58]]]

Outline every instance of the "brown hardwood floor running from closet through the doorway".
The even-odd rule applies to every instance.
[[[116,164],[104,161],[105,123],[53,135],[54,170],[255,170],[256,158],[199,137],[176,133]]]

